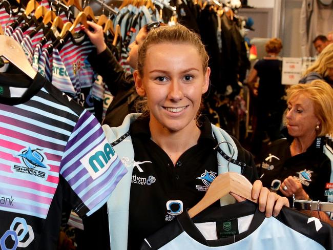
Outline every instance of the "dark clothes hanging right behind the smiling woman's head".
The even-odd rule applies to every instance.
[[[205,114],[238,137],[235,128],[245,120],[246,112],[240,105],[244,101],[238,101],[239,82],[250,66],[241,32],[245,21],[237,14],[240,1],[171,0],[170,5],[177,9],[178,22],[200,35],[210,56],[211,89],[205,99]],[[168,16],[163,15],[163,19],[165,22]]]

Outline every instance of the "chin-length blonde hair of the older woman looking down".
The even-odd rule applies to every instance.
[[[293,85],[287,89],[287,102],[301,94],[314,102],[315,115],[320,120],[318,136],[333,133],[333,89],[323,80]],[[306,121],[305,121],[306,122]]]

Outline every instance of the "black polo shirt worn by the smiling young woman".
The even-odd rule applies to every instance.
[[[149,119],[131,124],[135,167],[132,174],[129,211],[129,249],[194,206],[217,176],[217,145],[207,118],[202,119],[198,144],[185,151],[174,165],[153,140]],[[141,163],[140,163],[141,162]],[[143,172],[140,172],[143,171]]]

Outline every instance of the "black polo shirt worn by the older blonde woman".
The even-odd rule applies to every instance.
[[[295,156],[290,154],[292,141],[292,137],[279,139],[264,154],[260,179],[263,186],[282,195],[279,188],[283,180],[295,176],[311,199],[327,201],[325,186],[333,180],[330,160],[323,153],[324,137],[317,137],[305,152]]]

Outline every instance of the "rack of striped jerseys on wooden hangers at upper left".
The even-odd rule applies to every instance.
[[[13,37],[22,46],[36,71],[101,121],[105,86],[100,84],[100,78],[86,60],[94,46],[80,29],[81,24],[88,27],[86,19],[96,22],[91,8],[85,6],[86,1],[84,8],[76,0],[69,0],[65,4],[57,0],[29,1],[25,5],[12,1],[0,1],[0,31]],[[113,20],[111,24],[114,26],[110,27],[110,31],[114,30],[119,23],[115,21],[119,16],[122,17],[121,12],[103,2],[97,2],[109,11],[106,19]],[[79,12],[74,16],[75,9],[83,10],[84,14]],[[152,18],[148,14],[144,17],[140,19],[139,27]],[[72,27],[73,23],[75,27]],[[110,36],[110,40],[114,41],[114,32],[106,32],[106,39]],[[119,38],[117,41],[114,46],[116,49],[112,51],[119,58],[124,40]],[[112,46],[112,43],[107,44]],[[1,71],[6,71],[7,66],[9,64],[2,67]]]

